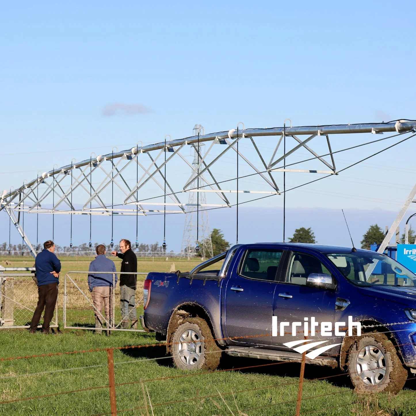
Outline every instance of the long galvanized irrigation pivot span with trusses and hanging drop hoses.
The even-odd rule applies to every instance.
[[[353,139],[353,136],[359,133],[391,133],[391,135],[368,141],[362,141],[362,135]],[[160,143],[148,146],[137,144],[124,151],[113,148],[109,154],[103,156],[94,154],[81,162],[72,159],[66,166],[39,174],[37,178],[23,183],[19,188],[4,191],[0,198],[0,210],[7,213],[10,227],[11,223],[15,225],[22,237],[22,245],[27,245],[34,256],[40,248],[38,241],[40,214],[52,214],[52,238],[54,215],[70,215],[70,247],[72,247],[74,214],[89,215],[90,247],[94,215],[111,217],[111,247],[114,245],[114,215],[136,217],[136,247],[139,245],[138,217],[163,215],[161,230],[163,229],[165,249],[166,215],[195,210],[197,229],[194,250],[198,253],[200,244],[203,243],[199,241],[201,233],[198,235],[200,227],[198,218],[201,211],[235,206],[238,243],[238,206],[258,199],[282,195],[284,241],[288,191],[338,175],[414,137],[415,134],[414,120],[295,127],[289,119],[286,119],[283,127],[245,129],[244,124],[239,123],[236,129],[212,134],[205,134],[201,128],[198,129],[197,135],[184,139],[171,140],[170,136],[166,135],[165,140]],[[342,135],[348,135],[349,146],[333,150],[330,135],[333,145],[342,143],[343,146],[346,141]],[[383,144],[386,139],[391,139],[393,143],[388,141],[382,149],[360,158],[349,166],[337,169],[335,160],[338,153],[375,143]],[[308,146],[308,144],[312,145],[312,142],[315,150]],[[202,144],[208,147],[205,153],[201,152]],[[188,161],[190,155],[187,154],[187,146],[194,149],[197,163]],[[360,152],[360,156],[362,155]],[[288,156],[290,163],[287,161]],[[290,188],[286,186],[287,173],[298,174],[294,180],[295,185],[291,184]],[[302,178],[309,173],[318,175],[318,178],[303,181]],[[296,182],[298,178],[300,181]],[[197,198],[196,203],[186,203],[190,192],[195,192],[197,196],[203,194],[204,198]],[[265,195],[258,196],[258,194]],[[406,210],[413,201],[414,194],[409,196],[411,199]],[[35,248],[25,233],[25,214],[36,214]]]

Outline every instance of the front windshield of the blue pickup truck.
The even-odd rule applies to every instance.
[[[416,275],[379,253],[328,253],[337,269],[355,285],[416,286]]]

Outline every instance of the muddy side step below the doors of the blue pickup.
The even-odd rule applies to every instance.
[[[235,357],[247,357],[247,358],[260,358],[265,360],[272,361],[287,361],[287,362],[301,362],[302,354],[297,352],[290,351],[277,351],[275,349],[264,349],[264,348],[246,348],[246,347],[229,347],[224,351],[228,355],[233,355]],[[318,364],[318,365],[327,365],[332,368],[338,366],[337,359],[334,357],[325,357],[319,355],[314,359],[306,357],[307,364]]]

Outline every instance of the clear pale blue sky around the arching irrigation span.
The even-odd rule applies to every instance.
[[[211,132],[286,117],[414,119],[414,10],[386,1],[3,2],[0,188],[92,151],[189,136],[196,123]],[[143,111],[105,116],[114,104]],[[397,210],[414,165],[409,141],[287,204]]]

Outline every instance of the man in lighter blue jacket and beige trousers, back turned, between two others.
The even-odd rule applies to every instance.
[[[107,328],[112,316],[111,299],[113,296],[113,275],[99,272],[114,272],[114,286],[117,283],[116,265],[106,258],[105,246],[100,244],[95,249],[97,257],[89,265],[88,287],[92,295],[95,312],[95,333],[101,334],[104,322],[107,322]],[[104,309],[104,315],[103,315]],[[107,331],[107,334],[109,332]]]

